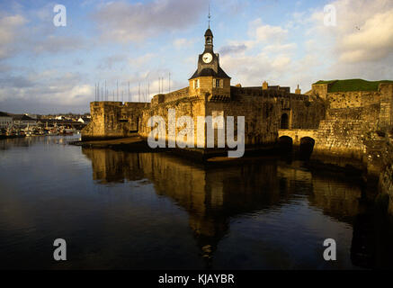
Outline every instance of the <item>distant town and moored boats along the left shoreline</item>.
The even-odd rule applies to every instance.
[[[79,133],[90,122],[90,114],[13,114],[0,112],[0,138]]]

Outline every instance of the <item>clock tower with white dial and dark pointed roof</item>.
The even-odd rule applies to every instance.
[[[219,54],[213,50],[213,33],[205,31],[205,49],[199,55],[198,68],[189,79],[190,95],[208,95],[209,101],[230,100],[230,77],[219,67]]]

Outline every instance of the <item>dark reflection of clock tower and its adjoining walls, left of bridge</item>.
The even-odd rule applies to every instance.
[[[230,217],[261,211],[285,197],[274,186],[279,184],[273,180],[275,164],[206,169],[165,154],[82,151],[92,160],[93,178],[101,184],[148,179],[157,194],[182,206],[208,266],[219,240],[228,232]]]

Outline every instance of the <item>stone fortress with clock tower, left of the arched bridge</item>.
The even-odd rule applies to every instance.
[[[121,138],[135,132],[147,138],[153,129],[147,125],[150,117],[161,116],[167,123],[169,109],[174,109],[176,120],[187,115],[195,123],[198,116],[224,116],[224,119],[234,116],[235,120],[237,116],[245,116],[246,147],[274,144],[280,128],[317,129],[326,112],[325,102],[320,97],[300,94],[299,89],[292,94],[290,87],[270,86],[266,82],[251,87],[231,85],[230,76],[219,65],[219,54],[214,52],[210,29],[204,38],[204,50],[187,87],[156,94],[151,103],[93,102],[90,104],[92,122],[83,130],[83,138]],[[166,140],[169,140],[172,136],[168,135],[167,126]],[[197,125],[194,130],[197,135]],[[206,143],[206,130],[201,137]],[[197,137],[195,147],[196,144]]]

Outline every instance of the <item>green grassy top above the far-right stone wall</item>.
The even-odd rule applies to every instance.
[[[327,92],[350,92],[350,91],[378,91],[380,83],[392,83],[392,80],[367,81],[363,79],[344,80],[319,80],[314,84],[327,84]]]

